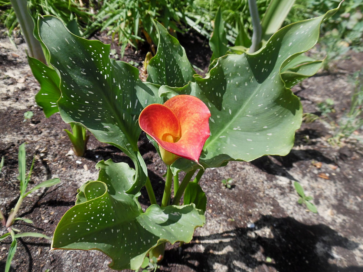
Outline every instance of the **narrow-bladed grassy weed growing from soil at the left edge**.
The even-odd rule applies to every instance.
[[[25,144],[20,145],[19,147],[19,181],[20,181],[20,197],[18,202],[16,203],[15,207],[13,209],[11,209],[10,214],[8,216],[8,219],[5,218],[5,216],[3,215],[3,213],[0,210],[0,221],[3,224],[3,226],[5,228],[7,228],[7,233],[5,233],[4,235],[0,236],[0,241],[11,237],[12,239],[12,243],[10,245],[9,248],[9,253],[8,253],[8,258],[6,260],[6,264],[5,264],[5,272],[8,272],[10,269],[10,264],[11,264],[11,260],[13,259],[13,256],[15,254],[16,251],[16,247],[17,247],[17,240],[16,238],[20,238],[20,237],[41,237],[41,238],[45,238],[48,240],[52,240],[52,238],[41,234],[41,233],[37,233],[37,232],[21,232],[20,230],[12,227],[12,225],[15,223],[15,221],[21,220],[24,221],[26,223],[32,224],[33,221],[26,219],[26,218],[21,218],[21,217],[16,217],[16,213],[18,212],[21,202],[23,202],[23,199],[29,195],[30,193],[33,193],[34,191],[40,189],[40,188],[45,188],[45,187],[50,187],[53,185],[56,185],[60,182],[59,178],[52,178],[50,180],[46,180],[41,182],[40,184],[34,186],[32,189],[26,191],[27,187],[28,187],[28,183],[30,180],[30,176],[32,174],[33,171],[33,167],[34,167],[34,158],[32,161],[32,165],[30,166],[30,170],[28,175],[26,175],[26,152],[25,152]],[[4,166],[4,157],[1,159],[0,162],[0,173],[1,173],[1,168],[3,168]]]

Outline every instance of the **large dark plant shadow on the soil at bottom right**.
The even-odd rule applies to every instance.
[[[332,264],[335,257],[340,257],[333,253],[333,247],[354,250],[358,244],[340,236],[326,225],[309,226],[291,217],[275,218],[269,215],[262,216],[254,225],[254,228],[237,228],[209,236],[195,236],[194,241],[203,246],[203,252],[191,252],[189,248],[196,245],[192,242],[183,245],[184,251],[178,248],[167,251],[166,262],[170,266],[173,263],[186,265],[197,272],[215,271],[214,261],[227,266],[228,272],[245,271],[243,266],[258,267],[261,269],[258,271],[269,271],[268,267],[274,267],[280,272],[363,271],[363,267],[339,267]],[[258,232],[261,230],[263,233],[266,229],[269,231],[265,235]],[[264,256],[257,257],[260,251]],[[266,257],[270,257],[272,261],[265,261]]]

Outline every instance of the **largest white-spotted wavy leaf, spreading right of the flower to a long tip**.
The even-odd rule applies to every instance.
[[[285,87],[281,67],[316,44],[320,24],[336,11],[280,29],[254,54],[220,57],[205,78],[195,76],[184,88],[160,88],[159,94],[164,90],[170,96],[195,95],[211,111],[211,136],[199,160],[204,168],[289,153],[302,107]],[[172,166],[186,172],[199,167],[183,158]]]

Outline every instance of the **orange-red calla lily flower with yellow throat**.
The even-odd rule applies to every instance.
[[[199,164],[203,145],[210,135],[211,112],[195,96],[176,95],[164,104],[150,104],[140,113],[140,128],[159,145],[167,165],[183,157]]]

